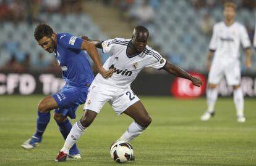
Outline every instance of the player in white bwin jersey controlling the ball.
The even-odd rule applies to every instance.
[[[119,140],[130,141],[150,125],[150,116],[137,95],[130,89],[130,84],[143,68],[164,69],[170,74],[189,79],[198,87],[202,85],[200,79],[191,76],[178,66],[168,63],[158,52],[148,47],[148,36],[147,28],[137,26],[132,39],[116,38],[107,41],[91,41],[104,53],[109,53],[109,58],[103,68],[114,69],[114,74],[108,79],[104,79],[100,74],[96,75],[88,92],[83,117],[73,125],[63,148],[56,157],[57,162],[66,160],[69,149],[92,124],[107,101],[118,115],[124,113],[134,119]]]

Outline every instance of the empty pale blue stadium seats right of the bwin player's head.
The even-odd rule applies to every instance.
[[[160,1],[160,10],[155,10],[155,21],[148,27],[155,45],[169,60],[184,69],[205,72],[209,36],[200,32],[200,20],[208,9],[194,9],[190,1]],[[209,10],[215,22],[223,20],[223,8]],[[255,12],[239,8],[236,20],[254,29]],[[244,59],[244,52],[241,52]],[[255,64],[255,58],[253,58]],[[242,68],[244,70],[244,68]],[[252,72],[256,71],[253,65]]]

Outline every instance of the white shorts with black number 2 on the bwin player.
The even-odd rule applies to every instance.
[[[114,111],[120,115],[126,111],[129,106],[139,100],[140,99],[132,92],[130,87],[124,90],[92,84],[83,109],[90,109],[91,111],[100,113],[100,109],[105,105],[106,101],[108,101]]]

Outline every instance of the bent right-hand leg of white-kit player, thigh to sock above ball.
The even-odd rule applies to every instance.
[[[129,125],[126,132],[124,132],[124,134],[117,141],[133,140],[135,137],[139,136],[151,123],[151,118],[148,116],[146,109],[140,101],[137,101],[133,105],[129,106],[124,113],[132,117],[134,122]]]

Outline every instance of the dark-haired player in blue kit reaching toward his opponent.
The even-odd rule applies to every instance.
[[[62,77],[66,81],[58,93],[43,98],[38,104],[38,118],[36,119],[35,134],[21,146],[24,149],[33,149],[41,143],[43,133],[50,120],[49,111],[55,109],[54,119],[59,130],[66,140],[72,128],[69,116],[75,119],[75,111],[79,105],[85,103],[88,88],[93,81],[93,72],[87,59],[87,53],[95,63],[98,72],[105,78],[111,77],[113,69],[106,71],[101,64],[95,45],[69,33],[54,33],[53,29],[41,23],[36,26],[35,39],[47,52],[55,53],[56,60],[62,69]],[[85,52],[86,50],[87,52]],[[81,158],[76,144],[70,148],[69,157]]]

